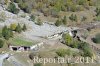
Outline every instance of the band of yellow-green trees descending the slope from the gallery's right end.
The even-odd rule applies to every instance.
[[[72,38],[68,33],[63,34],[62,37],[63,37],[64,43],[67,46],[72,47],[72,48],[81,49],[83,51],[82,56],[85,56],[85,57],[92,57],[93,56],[93,53],[92,53],[91,48],[89,47],[89,44]]]

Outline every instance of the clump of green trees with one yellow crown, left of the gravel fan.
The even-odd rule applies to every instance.
[[[13,37],[13,31],[21,33],[22,30],[23,31],[27,30],[25,24],[23,25],[23,27],[21,27],[19,23],[17,26],[16,26],[16,24],[11,24],[10,28],[8,28],[7,26],[4,26],[1,34],[4,37],[4,39],[9,40],[9,38]]]

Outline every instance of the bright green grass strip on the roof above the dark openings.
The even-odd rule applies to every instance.
[[[11,44],[15,46],[31,46],[37,44],[35,41],[29,41],[23,38],[13,38]]]

